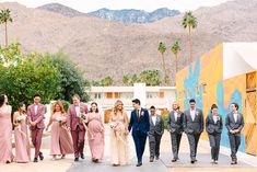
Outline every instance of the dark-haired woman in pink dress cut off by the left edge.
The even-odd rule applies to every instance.
[[[13,161],[11,112],[8,96],[0,95],[0,162],[3,163]]]

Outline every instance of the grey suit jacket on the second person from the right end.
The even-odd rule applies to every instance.
[[[206,118],[206,130],[209,135],[221,134],[223,128],[222,117],[218,114],[218,121],[214,123],[213,115],[209,114]]]

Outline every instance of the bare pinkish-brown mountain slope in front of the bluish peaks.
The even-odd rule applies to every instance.
[[[19,3],[0,3],[9,8],[13,23],[9,23],[9,42],[22,44],[25,53],[56,53],[62,50],[78,64],[90,80],[106,76],[120,85],[124,74],[144,69],[162,70],[159,42],[164,42],[166,68],[175,80],[174,55],[171,46],[178,41],[178,69],[187,65],[189,56],[188,30],[182,26],[184,13],[152,23],[108,21],[89,15],[66,16]],[[257,0],[234,0],[217,7],[194,11],[198,26],[192,31],[194,59],[222,42],[257,41]],[[0,25],[0,44],[4,42],[4,26]],[[214,69],[213,69],[214,70]]]

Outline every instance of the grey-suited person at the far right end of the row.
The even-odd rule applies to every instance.
[[[231,113],[229,113],[225,117],[225,126],[227,128],[227,135],[231,145],[231,164],[237,163],[236,152],[241,145],[241,131],[244,127],[244,116],[243,114],[238,113],[238,104],[232,103],[231,104]]]

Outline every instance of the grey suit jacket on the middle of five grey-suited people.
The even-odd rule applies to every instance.
[[[186,134],[201,134],[203,131],[203,114],[202,111],[196,108],[196,116],[192,121],[190,110],[184,112],[183,126]]]

